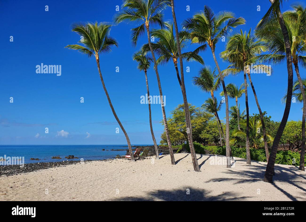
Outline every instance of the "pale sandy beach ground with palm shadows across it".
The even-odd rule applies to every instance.
[[[93,161],[0,177],[0,200],[306,200],[306,173],[276,165],[274,183],[262,181],[266,163],[236,158],[232,168],[215,165],[214,155],[190,154],[160,160]],[[217,163],[222,162],[218,156]]]

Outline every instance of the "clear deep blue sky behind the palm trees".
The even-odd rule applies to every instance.
[[[90,3],[88,3],[90,2]],[[176,0],[175,10],[178,24],[202,10],[205,2]],[[246,20],[240,29],[254,30],[258,21],[269,7],[268,0],[259,1],[209,1],[209,6],[217,13],[229,10]],[[293,1],[285,2],[282,11],[290,9]],[[49,11],[45,11],[45,5]],[[122,1],[15,1],[0,2],[2,32],[0,40],[0,144],[126,144],[116,122],[100,82],[94,58],[64,49],[68,44],[76,44],[80,37],[71,31],[71,24],[78,21],[112,22],[116,5]],[[186,11],[186,5],[190,11]],[[257,11],[257,6],[260,11]],[[172,19],[171,9],[164,11],[164,19]],[[100,56],[102,75],[118,117],[122,121],[132,144],[152,144],[148,124],[147,104],[140,104],[140,96],[145,95],[144,73],[136,69],[132,54],[147,41],[142,37],[136,48],[131,45],[132,23],[121,23],[112,27],[110,35],[119,42],[118,48]],[[13,36],[13,42],[10,42]],[[218,55],[224,50],[225,42],[219,41]],[[191,51],[196,46],[188,46]],[[215,67],[211,51],[201,53],[205,64]],[[218,59],[222,69],[227,67]],[[36,65],[61,65],[62,75],[37,74]],[[119,72],[116,72],[116,67]],[[200,106],[209,96],[192,85],[192,77],[197,75],[201,65],[196,62],[184,63],[190,72],[185,72],[188,102]],[[285,93],[287,70],[285,64],[272,65],[274,73],[253,74],[259,103],[273,120],[280,121],[285,105],[281,98]],[[304,69],[300,73],[304,76]],[[151,95],[159,95],[156,75],[148,71]],[[182,103],[182,94],[177,82],[174,66],[169,63],[159,66],[163,94],[166,96],[166,114]],[[295,74],[294,74],[295,75]],[[243,83],[243,75],[229,76],[225,83]],[[218,95],[218,93],[216,93]],[[13,103],[10,103],[13,97]],[[84,103],[80,103],[84,97]],[[221,99],[221,96],[218,100]],[[244,107],[245,100],[239,100]],[[230,100],[230,105],[235,101]],[[293,103],[289,120],[301,119],[301,104]],[[162,112],[160,104],[152,104],[152,121],[156,140],[160,141],[163,127],[160,124]],[[250,114],[258,113],[252,90],[249,87]],[[219,112],[225,117],[225,106]],[[49,133],[45,133],[45,128]],[[68,134],[69,133],[69,134]],[[89,134],[88,134],[89,133]]]

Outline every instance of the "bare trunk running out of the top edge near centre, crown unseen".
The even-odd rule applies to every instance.
[[[185,111],[185,119],[186,119],[186,130],[187,130],[187,136],[188,136],[188,142],[190,147],[190,153],[192,158],[192,164],[193,169],[196,172],[200,172],[200,167],[198,164],[198,161],[196,159],[196,151],[193,147],[193,140],[192,140],[192,127],[191,127],[191,119],[189,114],[189,108],[188,108],[188,102],[187,102],[187,95],[186,95],[186,89],[185,89],[185,82],[184,82],[184,70],[183,70],[183,59],[182,59],[182,53],[181,53],[181,45],[180,45],[180,39],[178,36],[178,28],[177,28],[177,22],[174,12],[174,2],[171,0],[171,9],[172,9],[172,16],[173,16],[173,22],[174,22],[174,28],[175,28],[175,35],[176,35],[176,41],[177,41],[177,51],[180,58],[180,68],[181,68],[181,89],[183,93],[183,100],[184,100],[184,111]]]

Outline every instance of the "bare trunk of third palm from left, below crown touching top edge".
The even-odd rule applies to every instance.
[[[157,70],[156,58],[155,58],[155,54],[154,54],[152,44],[151,44],[151,39],[150,39],[149,22],[146,21],[145,25],[146,25],[146,29],[147,29],[148,43],[149,43],[149,47],[150,47],[151,54],[152,54],[153,61],[154,61],[154,68],[155,68],[155,73],[156,73],[156,78],[157,78],[157,83],[158,83],[158,88],[159,88],[160,101],[161,101],[161,105],[162,105],[162,119],[163,119],[164,125],[165,125],[165,132],[166,132],[167,143],[168,143],[168,147],[169,147],[171,164],[175,165],[175,159],[174,159],[173,149],[172,149],[170,135],[169,135],[168,123],[167,123],[167,118],[166,118],[166,111],[165,111],[164,101],[163,101],[163,97],[162,97],[162,86],[160,85],[160,79],[159,79],[159,74],[158,74],[158,70]]]

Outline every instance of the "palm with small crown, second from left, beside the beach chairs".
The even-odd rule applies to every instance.
[[[153,127],[152,127],[152,118],[151,118],[151,101],[150,101],[150,92],[149,92],[149,85],[148,85],[148,78],[147,78],[147,70],[150,68],[151,62],[153,59],[151,56],[146,55],[144,52],[140,51],[133,55],[133,60],[136,60],[138,62],[137,68],[139,71],[144,71],[144,75],[146,77],[146,85],[147,85],[147,96],[148,96],[148,105],[149,105],[149,122],[150,122],[150,129],[151,129],[151,135],[152,140],[155,148],[155,154],[156,159],[159,159],[159,153],[158,153],[158,147],[156,144],[155,136],[153,133]]]

